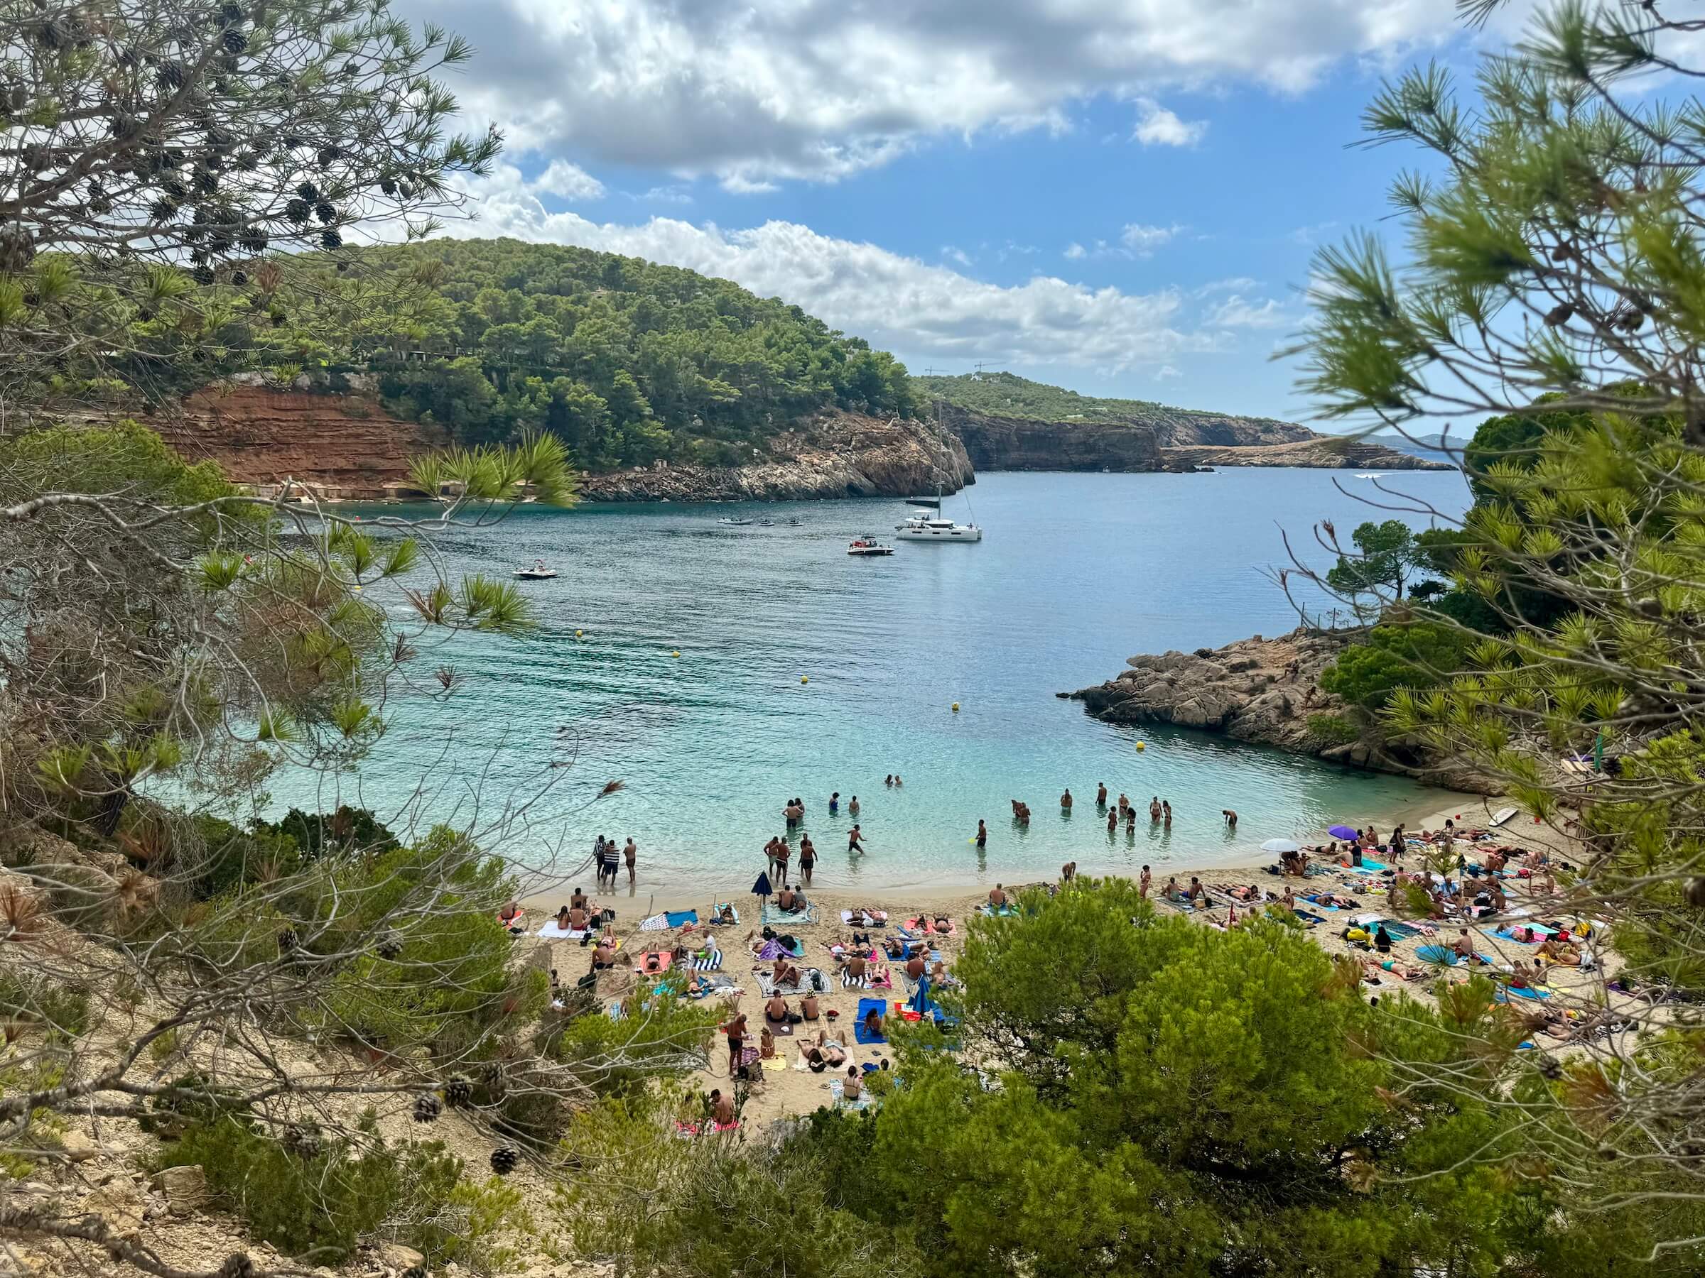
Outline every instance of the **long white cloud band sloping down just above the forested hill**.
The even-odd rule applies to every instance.
[[[685,266],[781,296],[905,360],[989,360],[1117,373],[1180,351],[1226,349],[1226,336],[1180,327],[1175,290],[1124,293],[1038,274],[991,285],[875,244],[822,235],[791,222],[747,230],[651,218],[597,223],[549,213],[503,174],[477,191],[479,218],[457,235],[513,235]]]

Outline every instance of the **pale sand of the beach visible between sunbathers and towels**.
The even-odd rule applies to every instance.
[[[1497,799],[1483,799],[1480,796],[1458,796],[1459,803],[1453,803],[1448,808],[1439,808],[1424,815],[1410,815],[1403,825],[1410,833],[1420,833],[1422,830],[1439,830],[1444,826],[1446,818],[1449,818],[1458,830],[1485,828],[1490,825],[1490,815],[1500,804]],[[1390,825],[1386,825],[1390,828]],[[1531,816],[1519,813],[1509,820],[1504,826],[1495,832],[1495,840],[1482,845],[1459,843],[1458,847],[1465,850],[1470,859],[1477,857],[1483,849],[1494,845],[1514,845],[1521,849],[1543,847],[1553,857],[1562,861],[1575,861],[1574,840],[1548,825],[1538,825]],[[1323,840],[1325,842],[1325,840]],[[754,857],[757,862],[752,876],[764,869],[762,857]],[[1410,869],[1417,867],[1419,855],[1408,857]],[[1366,951],[1354,947],[1344,939],[1345,927],[1350,925],[1352,918],[1357,915],[1379,915],[1384,917],[1390,912],[1386,901],[1386,881],[1376,874],[1357,874],[1352,871],[1344,871],[1342,874],[1320,876],[1309,879],[1280,879],[1267,871],[1269,861],[1245,862],[1240,866],[1216,864],[1205,859],[1204,864],[1194,867],[1182,867],[1168,864],[1165,872],[1154,874],[1154,891],[1151,900],[1158,898],[1166,879],[1176,876],[1182,884],[1188,884],[1190,876],[1195,874],[1204,884],[1222,889],[1229,888],[1236,891],[1246,891],[1250,888],[1260,888],[1270,893],[1274,898],[1284,891],[1286,884],[1291,884],[1298,895],[1313,891],[1332,891],[1342,893],[1355,901],[1355,907],[1345,907],[1342,910],[1321,910],[1318,907],[1308,907],[1309,912],[1320,920],[1315,924],[1308,935],[1316,941],[1326,953],[1332,954],[1354,954],[1357,959],[1366,958]],[[1095,878],[1095,871],[1088,866],[1079,866],[1079,874],[1084,878]],[[590,883],[590,874],[587,876]],[[757,1045],[757,1031],[764,1021],[764,993],[759,988],[754,970],[762,970],[766,975],[772,970],[771,961],[755,961],[750,954],[750,944],[762,942],[762,924],[760,924],[760,903],[750,895],[750,878],[743,881],[745,891],[735,893],[706,893],[702,888],[692,888],[687,884],[670,884],[658,886],[656,891],[650,891],[643,879],[634,886],[633,895],[629,895],[626,883],[626,871],[621,874],[619,889],[612,893],[604,893],[598,900],[600,905],[616,910],[614,932],[622,937],[622,963],[617,964],[614,971],[602,973],[598,978],[598,997],[607,1004],[621,1000],[624,995],[634,992],[641,982],[653,980],[651,976],[641,976],[636,973],[636,964],[641,963],[643,954],[656,949],[667,951],[675,944],[677,939],[684,941],[689,947],[702,944],[701,937],[704,932],[702,920],[711,917],[713,903],[730,901],[740,912],[738,925],[716,927],[713,929],[718,944],[723,951],[723,964],[720,975],[728,978],[731,988],[713,993],[713,1005],[731,1016],[735,1010],[742,1010],[748,1017],[748,1028],[752,1031],[750,1043]],[[750,1097],[745,1106],[745,1114],[748,1121],[764,1121],[771,1118],[781,1118],[786,1114],[808,1113],[822,1104],[832,1101],[829,1091],[829,1082],[832,1074],[812,1074],[800,1060],[800,1048],[805,1045],[806,1036],[815,1043],[817,1031],[829,1031],[830,1038],[842,1036],[847,1046],[849,1063],[863,1065],[866,1062],[881,1065],[887,1058],[888,1050],[885,1045],[858,1045],[854,1041],[854,1019],[861,999],[883,999],[888,1004],[888,1010],[895,1012],[895,1004],[904,1004],[907,999],[907,988],[904,983],[902,964],[892,964],[885,959],[878,959],[871,964],[876,971],[888,971],[892,980],[892,988],[842,988],[837,976],[837,963],[834,947],[846,947],[852,942],[854,929],[842,920],[844,910],[866,908],[866,910],[885,910],[888,913],[887,927],[858,929],[859,932],[868,932],[871,941],[880,947],[885,939],[897,935],[897,927],[907,918],[916,915],[934,917],[938,913],[946,915],[953,920],[953,934],[938,937],[931,935],[929,942],[934,951],[939,953],[943,963],[951,971],[953,961],[960,953],[960,946],[965,935],[967,920],[975,917],[975,913],[987,903],[989,888],[994,883],[984,884],[965,884],[960,888],[945,889],[910,889],[895,891],[883,888],[859,888],[847,889],[839,884],[825,884],[820,879],[806,889],[806,898],[812,905],[812,913],[808,918],[791,917],[784,922],[772,922],[772,929],[777,934],[788,934],[796,937],[803,944],[803,954],[796,959],[801,970],[818,968],[827,976],[827,992],[818,995],[818,1004],[824,1012],[824,1019],[817,1026],[798,1024],[793,1026],[793,1034],[783,1034],[776,1038],[776,1060],[772,1067],[760,1070],[760,1082],[752,1087]],[[1021,891],[1028,886],[1038,886],[1032,883],[1004,883],[1009,891]],[[1543,898],[1534,898],[1528,891],[1526,881],[1507,881],[1511,889],[1512,908],[1528,907],[1540,917],[1545,912]],[[1216,893],[1219,900],[1212,908],[1190,912],[1190,917],[1202,925],[1222,927],[1229,920],[1233,910],[1245,913],[1246,907],[1238,907],[1229,903],[1222,895]],[[566,893],[563,893],[566,896]],[[716,901],[709,898],[714,896]],[[537,896],[530,901],[532,908],[529,912],[530,932],[537,932],[539,925],[549,922],[549,915],[556,910],[561,901],[551,896]],[[1176,912],[1165,901],[1156,901],[1156,908],[1161,912]],[[639,922],[650,913],[658,913],[663,910],[696,910],[701,924],[685,929],[665,929],[665,930],[639,930]],[[1432,932],[1417,934],[1412,937],[1398,939],[1393,946],[1393,954],[1396,961],[1403,964],[1420,964],[1415,951],[1425,944],[1444,944],[1449,946],[1458,935],[1456,922],[1439,922],[1434,924]],[[1517,941],[1504,941],[1490,935],[1490,929],[1473,930],[1477,949],[1492,959],[1494,966],[1507,970],[1517,959],[1531,959],[1534,953],[1533,944],[1524,944]],[[578,980],[587,973],[590,966],[590,949],[581,947],[578,942],[534,942],[547,944],[551,949],[551,966],[558,968],[564,983]],[[878,951],[880,953],[880,951]],[[1589,995],[1601,992],[1604,970],[1603,966],[1596,973],[1581,973],[1567,968],[1552,970],[1552,1007],[1563,1005],[1565,1000],[1572,997],[1570,992],[1582,997],[1574,999],[1575,1004],[1584,1005],[1589,1002]],[[1465,978],[1466,970],[1453,970],[1453,978]],[[1410,995],[1430,1000],[1430,987],[1434,983],[1436,973],[1429,970],[1425,980],[1403,982],[1390,973],[1381,978],[1379,988],[1367,985],[1366,993],[1376,997],[1384,990],[1395,990],[1398,987],[1405,988]],[[798,997],[789,997],[789,1009],[798,1009]],[[829,1012],[834,1017],[829,1017]],[[844,1070],[841,1072],[844,1077]],[[711,1048],[709,1067],[699,1074],[699,1085],[706,1091],[711,1087],[728,1087],[728,1058],[723,1050],[721,1038],[714,1039]]]

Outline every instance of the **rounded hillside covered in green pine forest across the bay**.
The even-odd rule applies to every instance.
[[[592,469],[735,463],[824,407],[910,414],[888,353],[726,279],[518,240],[290,264],[292,361],[370,366],[387,407],[457,441],[544,428]]]

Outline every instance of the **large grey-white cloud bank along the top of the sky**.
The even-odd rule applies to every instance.
[[[735,179],[834,181],[943,136],[1061,130],[1095,97],[1144,141],[1178,87],[1298,92],[1459,32],[1444,0],[396,0],[469,36],[455,77],[512,148]],[[1144,131],[1147,136],[1144,136]]]

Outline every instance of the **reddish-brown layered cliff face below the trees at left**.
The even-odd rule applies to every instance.
[[[443,448],[443,431],[397,421],[360,395],[222,383],[189,395],[181,412],[148,421],[191,462],[259,491],[292,479],[321,498],[387,498],[406,491],[409,458]]]

